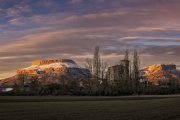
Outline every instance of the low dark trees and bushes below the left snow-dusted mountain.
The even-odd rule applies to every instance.
[[[43,84],[37,77],[32,77],[28,84],[15,84],[11,95],[87,95],[88,91],[80,87],[76,80],[68,81],[67,84],[50,83]],[[6,94],[5,94],[6,95]]]

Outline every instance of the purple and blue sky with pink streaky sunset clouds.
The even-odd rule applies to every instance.
[[[180,65],[180,0],[0,0],[0,79],[34,60],[84,66],[94,47],[117,64],[137,50],[141,67]]]

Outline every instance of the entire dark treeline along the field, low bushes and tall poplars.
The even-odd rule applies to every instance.
[[[31,77],[26,83],[26,76],[19,75],[18,83],[11,94],[14,95],[133,95],[133,94],[175,94],[180,93],[178,84],[155,86],[139,81],[140,60],[136,50],[130,60],[129,51],[125,51],[123,66],[120,65],[116,79],[108,78],[108,64],[100,56],[96,46],[93,58],[87,58],[85,67],[91,72],[87,80],[59,80],[59,83],[43,84],[38,76]],[[121,63],[120,63],[121,64]],[[123,69],[121,69],[121,67]],[[111,74],[111,72],[110,72]],[[111,75],[109,75],[111,76]],[[42,77],[46,79],[47,77]]]

